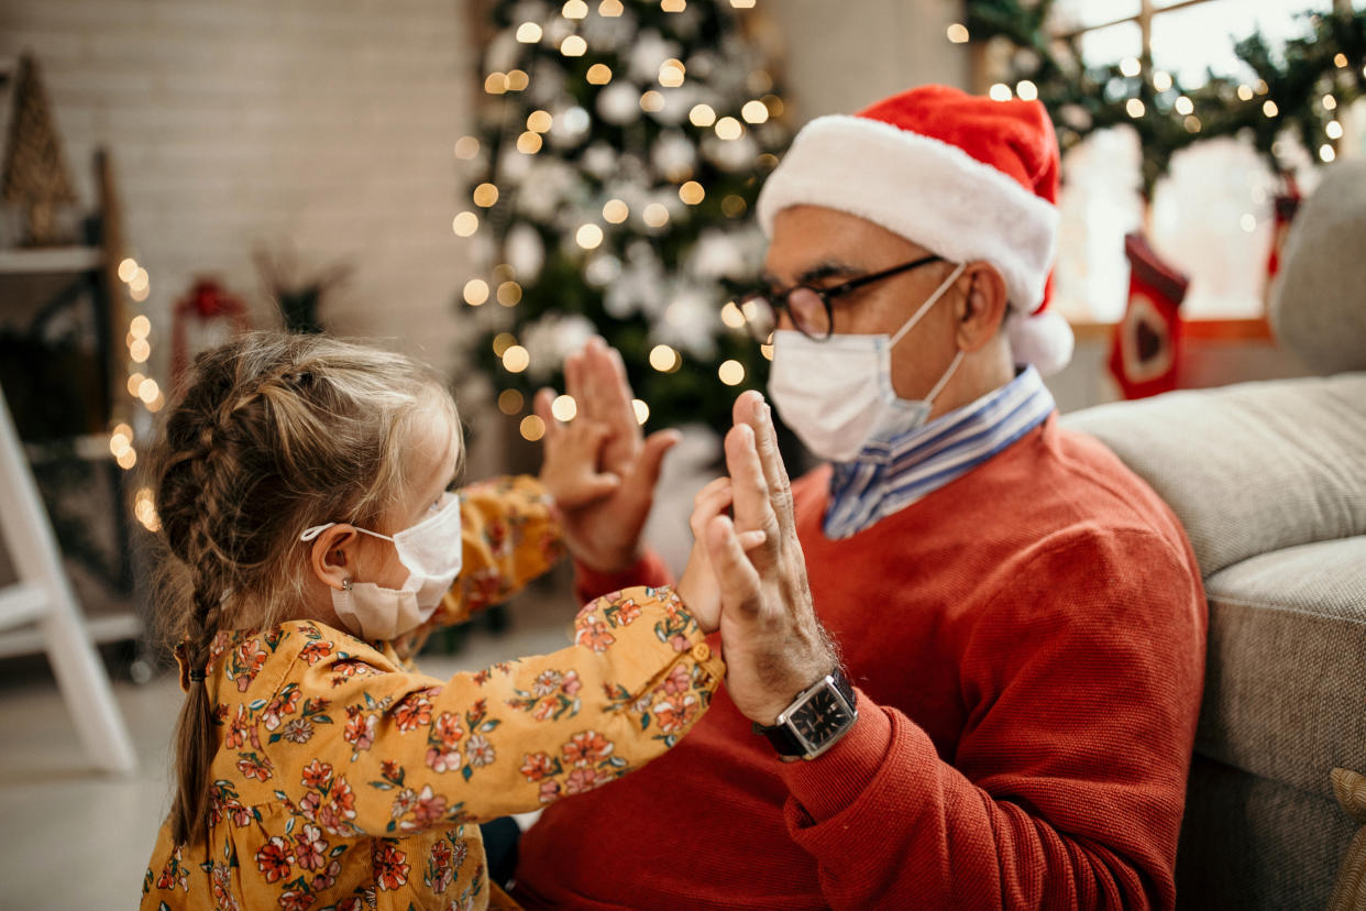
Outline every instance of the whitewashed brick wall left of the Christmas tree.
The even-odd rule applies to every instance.
[[[251,250],[291,242],[310,269],[354,266],[331,329],[448,366],[466,25],[459,0],[0,0],[0,56],[37,53],[87,206],[93,152],[112,152],[157,354],[198,275],[272,320]]]

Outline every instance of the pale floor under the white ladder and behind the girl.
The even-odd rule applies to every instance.
[[[422,669],[451,676],[563,647],[575,609],[566,590],[523,594],[501,635],[474,630],[454,656],[423,654]],[[115,695],[139,766],[111,777],[93,772],[79,750],[46,660],[0,661],[0,732],[8,731],[0,735],[0,910],[135,906],[171,803],[168,748],[182,694],[171,673],[145,684],[123,677]]]

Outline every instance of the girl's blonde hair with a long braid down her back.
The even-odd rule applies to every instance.
[[[398,504],[414,421],[433,406],[458,434],[455,403],[433,370],[326,336],[253,332],[195,359],[149,473],[169,552],[157,626],[197,677],[243,605],[257,628],[299,611],[305,529],[376,527]],[[216,747],[213,703],[194,680],[176,731],[178,844],[206,830]]]

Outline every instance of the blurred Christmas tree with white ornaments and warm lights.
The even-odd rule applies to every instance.
[[[754,0],[496,3],[478,135],[456,143],[470,197],[458,305],[477,365],[522,436],[541,385],[591,333],[622,351],[653,426],[729,425],[766,348],[734,305],[764,240],[751,217],[790,135],[746,16]],[[753,20],[751,20],[753,22]],[[556,402],[568,419],[574,403]]]

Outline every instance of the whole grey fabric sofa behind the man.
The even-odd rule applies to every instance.
[[[1330,376],[1064,422],[1171,504],[1205,578],[1177,906],[1366,908],[1366,163],[1328,168],[1303,206],[1270,316]]]

